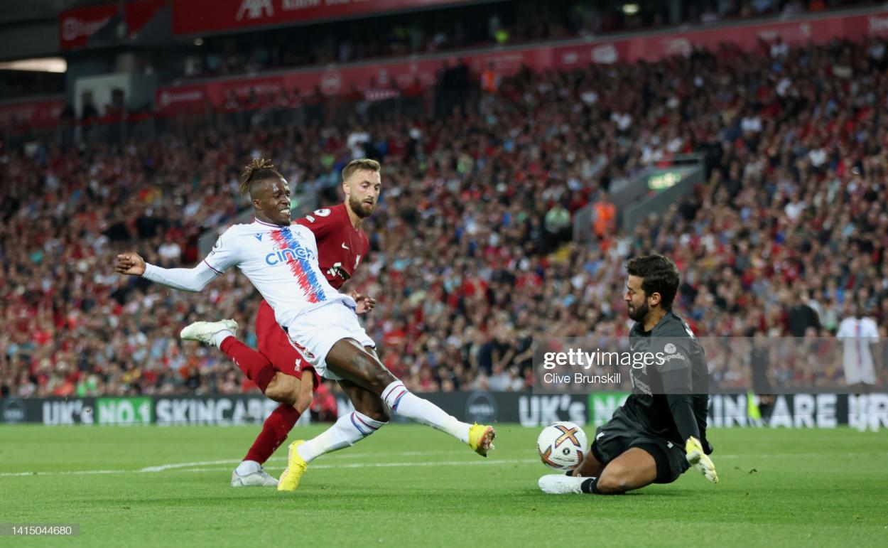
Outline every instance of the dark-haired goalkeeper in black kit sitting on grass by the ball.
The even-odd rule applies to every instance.
[[[630,369],[632,393],[595,433],[583,462],[567,475],[540,478],[546,493],[615,495],[671,483],[694,466],[718,483],[706,440],[709,370],[702,346],[672,312],[678,268],[662,255],[633,258],[624,297],[633,355],[653,360]],[[650,353],[650,354],[647,354]]]

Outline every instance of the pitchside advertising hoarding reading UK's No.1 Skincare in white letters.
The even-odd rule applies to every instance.
[[[518,424],[527,427],[571,421],[594,429],[603,425],[629,396],[628,392],[539,394],[459,392],[419,394],[466,422]],[[860,426],[859,396],[847,393],[787,393],[775,396],[767,422],[772,428]],[[888,393],[866,396],[870,424],[888,428]],[[0,424],[42,425],[261,425],[278,403],[261,395],[151,396],[135,398],[4,398]],[[353,407],[337,396],[339,414]],[[757,425],[750,417],[749,394],[710,396],[710,426]],[[305,417],[300,425],[310,421]],[[392,422],[404,422],[395,415]]]

